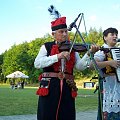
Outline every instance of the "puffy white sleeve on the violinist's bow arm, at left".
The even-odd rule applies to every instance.
[[[55,62],[58,62],[57,54],[52,56],[47,56],[47,50],[45,48],[45,45],[42,45],[34,61],[35,68],[39,69],[39,68],[48,67]]]

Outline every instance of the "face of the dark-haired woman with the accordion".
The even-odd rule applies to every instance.
[[[118,35],[116,33],[108,33],[106,37],[104,37],[106,43],[110,47],[114,47],[115,44],[117,43],[116,39],[118,38]]]

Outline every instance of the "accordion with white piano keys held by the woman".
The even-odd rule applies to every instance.
[[[117,60],[117,61],[120,60],[120,48],[111,48],[110,53],[113,60]],[[118,82],[120,82],[120,67],[115,69],[115,74]]]

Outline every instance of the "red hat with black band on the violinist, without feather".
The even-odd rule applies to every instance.
[[[63,28],[67,28],[66,17],[61,17],[51,22],[52,31],[63,29]]]

